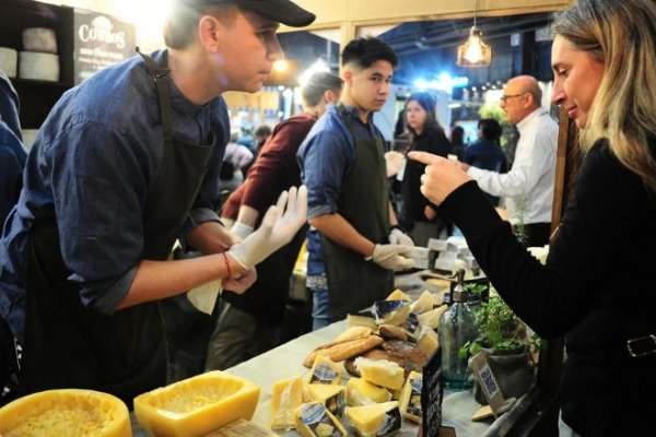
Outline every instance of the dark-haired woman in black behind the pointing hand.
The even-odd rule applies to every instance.
[[[452,153],[452,145],[435,117],[435,97],[432,94],[419,92],[410,95],[406,101],[405,117],[410,137],[409,151],[429,152],[444,157]],[[420,191],[424,167],[417,161],[406,162],[399,222],[418,246],[425,247],[427,239],[437,238],[444,228],[449,227],[447,233],[450,233],[450,226],[437,217],[435,205]]]

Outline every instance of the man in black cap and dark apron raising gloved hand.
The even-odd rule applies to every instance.
[[[165,383],[159,300],[220,279],[243,293],[254,265],[291,240],[304,188],[242,243],[218,220],[221,94],[258,91],[282,58],[278,23],[313,20],[289,0],[176,0],[167,50],[62,96],[0,246],[0,315],[23,346],[19,394],[89,388],[131,405]],[[167,261],[178,238],[206,256]]]

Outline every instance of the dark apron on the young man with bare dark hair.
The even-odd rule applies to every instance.
[[[338,212],[364,237],[375,244],[386,243],[389,233],[389,186],[383,141],[379,137],[358,140],[352,116],[342,105],[339,110],[355,141],[355,163],[342,182]],[[362,253],[319,235],[333,320],[355,314],[391,293],[391,271],[373,261],[365,261]]]

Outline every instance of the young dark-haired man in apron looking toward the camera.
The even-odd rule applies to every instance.
[[[412,240],[397,226],[383,135],[373,122],[397,64],[380,39],[349,43],[340,104],[317,121],[298,151],[316,229],[308,237],[308,274],[318,280],[311,286],[315,329],[384,299],[394,288],[394,271],[412,267]]]

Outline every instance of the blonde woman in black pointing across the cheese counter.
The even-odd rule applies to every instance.
[[[584,160],[547,264],[456,164],[422,153],[422,192],[541,336],[565,335],[561,436],[645,435],[656,411],[656,2],[579,0],[552,24],[554,92]],[[648,432],[647,432],[648,434]]]

